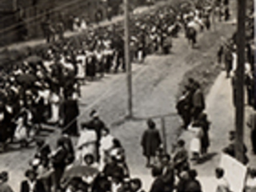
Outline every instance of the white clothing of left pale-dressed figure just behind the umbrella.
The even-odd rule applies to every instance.
[[[84,157],[87,154],[92,154],[96,159],[96,141],[97,135],[95,130],[82,127],[80,137],[77,143],[76,158],[79,164],[82,164]]]

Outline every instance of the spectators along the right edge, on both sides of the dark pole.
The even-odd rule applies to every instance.
[[[246,14],[246,57],[244,64],[244,87],[245,87],[245,98],[246,105],[250,106],[252,110],[255,110],[256,102],[255,102],[255,68],[254,68],[254,11],[249,10]],[[237,94],[238,94],[238,54],[237,54],[237,34],[223,41],[222,45],[218,50],[218,63],[222,64],[226,71],[226,78],[230,78],[230,83],[232,85],[233,90],[233,104],[234,107],[237,106]],[[256,152],[256,131],[255,131],[255,116],[254,113],[250,114],[250,118],[247,121],[247,126],[251,129],[251,143],[253,148],[253,153]],[[234,134],[232,131],[230,132],[230,141],[234,141]],[[232,148],[232,147],[231,147]],[[234,147],[233,147],[234,148]],[[246,158],[246,146],[244,147],[244,162],[248,162]],[[233,149],[234,150],[234,149]],[[234,151],[230,152],[232,156],[235,156]]]

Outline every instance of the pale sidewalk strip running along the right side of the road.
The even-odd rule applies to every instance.
[[[251,109],[246,106],[245,123],[251,113]],[[203,191],[214,192],[216,182],[214,177],[214,169],[220,161],[221,150],[228,145],[228,133],[234,130],[234,106],[232,104],[232,87],[230,78],[226,78],[226,74],[222,72],[214,82],[210,93],[206,98],[206,112],[211,122],[210,126],[210,159],[200,165],[194,166],[198,170],[198,179],[202,183]],[[245,143],[248,148],[248,157],[250,158],[250,166],[256,166],[256,157],[251,154],[250,130],[245,125]],[[182,133],[181,138],[186,141],[189,147],[191,134],[188,131]],[[193,166],[193,165],[192,165]]]

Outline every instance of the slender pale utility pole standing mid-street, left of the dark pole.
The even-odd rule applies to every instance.
[[[132,74],[130,64],[130,33],[129,33],[129,0],[124,0],[125,10],[125,58],[126,58],[126,78],[127,78],[127,106],[128,114],[127,118],[133,116],[133,101],[132,101]]]

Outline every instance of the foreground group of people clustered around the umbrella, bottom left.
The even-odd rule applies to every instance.
[[[82,122],[76,144],[63,132],[56,146],[42,139],[36,141],[37,148],[20,191],[142,191],[142,180],[130,176],[122,143],[111,135],[97,111],[93,110],[90,117],[89,121]],[[8,179],[2,175],[0,180],[6,184],[1,182],[0,190],[12,192]]]

